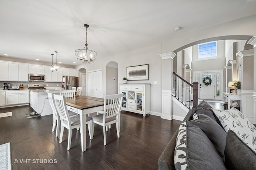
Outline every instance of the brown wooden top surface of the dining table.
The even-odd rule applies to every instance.
[[[75,96],[72,98],[65,98],[66,105],[78,109],[88,109],[92,107],[104,106],[103,98],[94,98],[90,96]]]

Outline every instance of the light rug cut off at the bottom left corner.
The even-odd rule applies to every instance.
[[[11,149],[10,142],[0,145],[0,170],[11,170]]]

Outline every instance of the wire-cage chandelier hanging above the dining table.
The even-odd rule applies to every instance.
[[[92,63],[92,61],[95,61],[97,53],[95,51],[88,49],[87,44],[87,28],[89,25],[84,24],[84,27],[86,27],[86,42],[83,49],[77,49],[75,51],[76,58],[81,61],[82,63]]]

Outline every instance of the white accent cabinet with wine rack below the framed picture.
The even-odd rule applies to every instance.
[[[150,84],[119,84],[124,94],[121,110],[142,114],[150,113]]]

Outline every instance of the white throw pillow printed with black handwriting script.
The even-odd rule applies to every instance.
[[[246,116],[234,107],[228,110],[213,109],[213,111],[226,132],[234,131],[256,149],[256,127]]]

